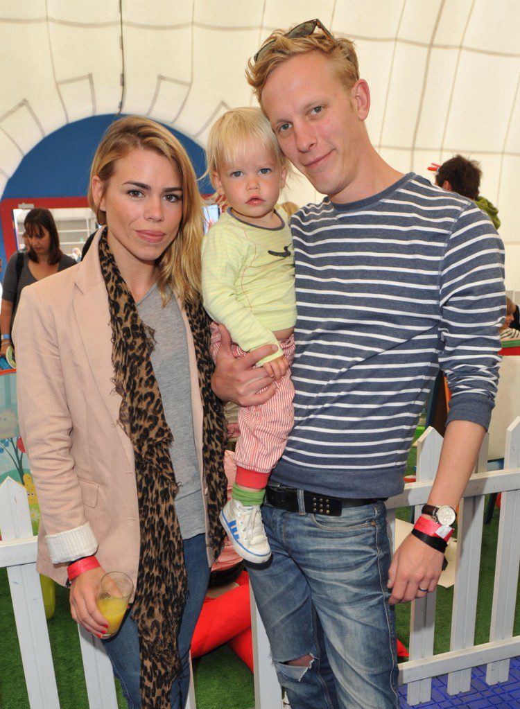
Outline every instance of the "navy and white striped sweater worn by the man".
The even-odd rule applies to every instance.
[[[271,481],[395,495],[439,364],[452,393],[448,421],[489,425],[502,241],[475,203],[414,173],[369,199],[309,204],[291,227],[295,423]]]

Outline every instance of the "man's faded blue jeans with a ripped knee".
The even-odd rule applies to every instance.
[[[341,517],[264,504],[262,519],[273,559],[250,581],[291,708],[399,708],[385,504]]]

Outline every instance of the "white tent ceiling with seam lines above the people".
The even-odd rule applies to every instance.
[[[519,0],[0,0],[0,194],[28,150],[87,116],[140,113],[204,146],[221,112],[253,105],[244,67],[262,40],[316,16],[355,40],[388,162],[431,177],[455,152],[480,160],[519,287]],[[287,197],[319,199],[303,179]]]

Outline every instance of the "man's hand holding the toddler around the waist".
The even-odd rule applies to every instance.
[[[276,346],[262,345],[258,350],[236,359],[231,354],[231,337],[228,331],[223,325],[218,325],[218,329],[221,332],[221,346],[211,379],[216,396],[222,401],[234,401],[239,406],[265,403],[275,393],[276,384],[263,367],[255,367],[255,364],[275,352]]]

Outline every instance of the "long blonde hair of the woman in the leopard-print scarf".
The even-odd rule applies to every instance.
[[[201,292],[201,242],[203,235],[202,200],[197,176],[186,150],[164,125],[149,118],[127,116],[114,121],[96,150],[90,170],[89,206],[99,224],[106,224],[106,213],[94,203],[92,178],[103,182],[103,194],[114,174],[116,161],[132,150],[153,150],[164,155],[179,173],[182,186],[182,218],[177,236],[157,259],[157,287],[163,306],[175,289],[182,303],[194,301]]]

